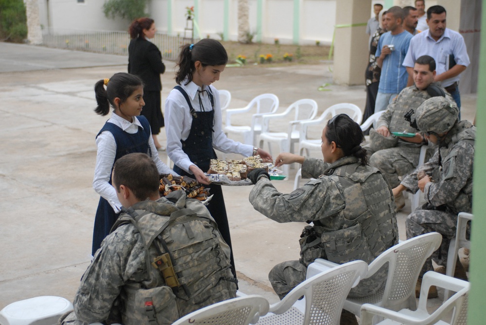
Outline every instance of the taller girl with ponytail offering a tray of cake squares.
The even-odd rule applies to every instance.
[[[219,80],[227,62],[225,48],[214,39],[182,46],[175,73],[178,86],[165,101],[167,154],[174,161],[174,171],[207,185],[205,172],[210,160],[217,158],[214,149],[243,156],[260,154],[264,160],[272,161],[270,154],[260,148],[228,139],[223,132],[219,93],[211,84]],[[221,186],[210,184],[209,188],[213,198],[208,210],[231,247]],[[231,264],[236,277],[232,252]]]

